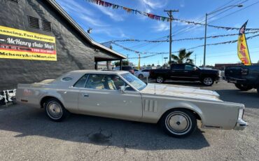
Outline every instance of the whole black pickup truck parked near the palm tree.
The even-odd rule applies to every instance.
[[[155,79],[157,83],[164,83],[165,80],[186,80],[213,85],[221,77],[221,71],[200,69],[193,64],[172,64],[170,69],[151,69],[149,77]]]

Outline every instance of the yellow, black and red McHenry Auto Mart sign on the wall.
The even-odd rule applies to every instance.
[[[0,59],[57,61],[55,37],[0,26]]]

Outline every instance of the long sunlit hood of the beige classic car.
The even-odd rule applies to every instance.
[[[186,97],[188,99],[207,99],[214,101],[221,101],[220,95],[211,90],[201,90],[200,87],[188,87],[183,85],[159,85],[148,83],[148,85],[141,90],[142,94],[159,94],[168,97]]]

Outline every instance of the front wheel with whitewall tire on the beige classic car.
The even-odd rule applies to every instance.
[[[186,109],[168,111],[162,116],[162,129],[171,137],[188,137],[197,128],[197,120],[193,113]]]

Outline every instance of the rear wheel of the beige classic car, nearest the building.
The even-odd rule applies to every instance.
[[[66,116],[69,115],[69,111],[64,109],[64,106],[59,102],[59,100],[52,98],[48,99],[44,103],[44,109],[46,115],[51,119],[56,122],[64,120]]]

